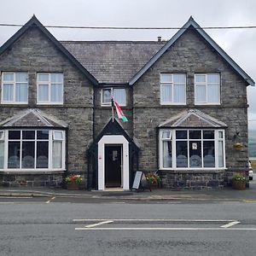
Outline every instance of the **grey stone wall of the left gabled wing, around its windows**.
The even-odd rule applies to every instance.
[[[55,116],[56,119],[63,120],[68,125],[67,172],[80,173],[86,178],[86,149],[93,138],[93,86],[90,81],[38,28],[30,28],[0,56],[0,71],[28,73],[28,104],[1,104],[0,121],[27,108],[38,108],[44,113]],[[39,72],[63,73],[63,105],[37,105],[37,73]],[[18,176],[12,177],[18,178]],[[33,174],[28,182],[33,177],[42,180],[42,175],[37,177]],[[45,177],[46,184],[49,176]]]

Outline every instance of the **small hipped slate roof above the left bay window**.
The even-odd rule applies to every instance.
[[[27,109],[0,123],[2,127],[59,127],[67,124],[38,109]]]

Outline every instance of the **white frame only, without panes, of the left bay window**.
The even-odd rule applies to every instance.
[[[9,129],[9,130],[2,130],[3,131],[3,140],[4,141],[4,160],[3,160],[3,169],[0,169],[3,172],[59,172],[59,171],[65,171],[66,170],[66,132],[62,130],[47,130],[49,131],[49,138],[48,139],[37,139],[37,131],[43,131],[44,129]],[[9,140],[9,131],[20,131],[20,139],[10,139]],[[22,131],[35,131],[35,138],[34,139],[23,139],[22,138]],[[53,141],[54,139],[54,132],[59,131],[62,134],[62,138],[56,139],[56,141],[62,142],[62,154],[61,154],[61,168],[53,168],[52,164],[52,150],[53,150]],[[12,142],[20,142],[20,148],[22,148],[23,142],[35,142],[35,162],[34,162],[34,168],[21,168],[21,161],[22,161],[22,150],[20,150],[20,168],[8,168],[8,152],[9,152],[9,141]],[[37,142],[49,142],[49,148],[48,148],[48,168],[37,168]]]

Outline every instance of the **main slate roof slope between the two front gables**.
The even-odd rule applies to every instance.
[[[61,44],[99,83],[127,84],[166,42],[61,41]]]

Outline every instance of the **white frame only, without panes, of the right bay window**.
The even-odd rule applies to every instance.
[[[207,131],[207,130],[212,130],[214,131],[214,139],[203,139],[201,136],[201,139],[189,139],[189,131]],[[163,132],[164,131],[171,131],[171,137],[172,139],[169,138],[162,138]],[[187,131],[187,139],[182,139],[182,141],[187,141],[188,143],[188,156],[189,156],[189,142],[195,140],[195,141],[201,141],[201,156],[203,156],[203,141],[214,141],[214,154],[215,154],[215,166],[214,167],[204,167],[203,166],[203,161],[202,161],[202,167],[189,167],[189,157],[188,157],[188,167],[177,167],[177,157],[176,157],[176,131]],[[222,132],[223,137],[220,138],[218,136],[218,132]],[[164,162],[163,162],[163,142],[164,141],[172,141],[172,167],[164,167]],[[180,140],[178,140],[180,141]],[[224,165],[219,166],[220,163],[218,163],[218,142],[223,142],[223,160],[224,160]],[[203,160],[203,157],[201,157]],[[159,132],[159,168],[160,170],[178,170],[178,171],[193,171],[193,170],[225,170],[226,169],[226,164],[225,164],[225,133],[223,129],[165,129],[165,130],[160,130]]]

